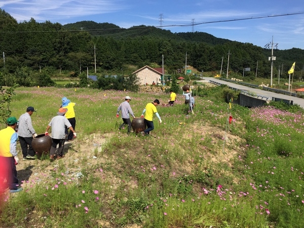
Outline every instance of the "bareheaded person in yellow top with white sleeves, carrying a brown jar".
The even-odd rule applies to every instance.
[[[154,113],[157,116],[157,118],[160,120],[160,123],[162,123],[160,115],[156,109],[156,106],[159,104],[160,104],[160,101],[158,99],[156,99],[153,102],[148,103],[145,106],[145,108],[142,110],[141,117],[144,117],[144,123],[147,126],[147,128],[142,132],[142,135],[148,135],[150,133],[150,131],[152,131],[154,129],[154,124],[153,124]]]

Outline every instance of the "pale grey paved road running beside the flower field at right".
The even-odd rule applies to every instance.
[[[270,92],[267,90],[255,89],[255,88],[251,88],[251,87],[247,87],[247,86],[234,84],[231,82],[225,82],[225,81],[215,79],[215,78],[203,77],[203,80],[201,82],[204,82],[204,81],[209,82],[210,80],[217,82],[217,83],[225,84],[225,85],[233,87],[233,88],[237,88],[239,90],[247,91],[249,93],[253,93],[253,94],[256,94],[259,96],[269,97],[270,100],[272,100],[273,97],[285,99],[285,100],[292,100],[294,104],[298,104],[300,107],[304,108],[304,99],[299,98],[299,97],[293,97],[293,96],[288,96],[288,95],[284,95],[284,94],[274,93],[274,92]]]

